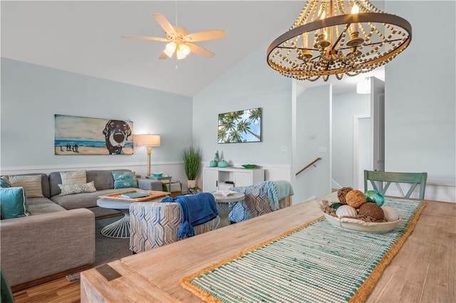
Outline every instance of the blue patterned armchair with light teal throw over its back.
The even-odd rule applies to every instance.
[[[228,218],[241,222],[289,206],[293,188],[288,181],[265,181],[245,187],[233,187],[232,191],[244,193],[244,201],[233,202]]]

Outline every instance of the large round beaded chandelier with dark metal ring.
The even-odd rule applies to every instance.
[[[367,0],[309,0],[289,31],[269,45],[266,58],[286,77],[341,80],[388,63],[411,39],[407,20]]]

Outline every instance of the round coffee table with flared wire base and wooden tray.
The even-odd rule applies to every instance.
[[[123,193],[144,192],[150,193],[149,196],[140,198],[125,198]],[[162,198],[168,196],[170,193],[166,191],[143,191],[143,190],[130,190],[120,191],[117,193],[110,193],[105,196],[100,196],[97,200],[97,206],[103,208],[115,209],[123,213],[123,218],[117,220],[101,229],[101,234],[109,238],[130,238],[130,214],[128,210],[131,203],[140,202],[160,202]]]

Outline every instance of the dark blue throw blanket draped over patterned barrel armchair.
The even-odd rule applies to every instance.
[[[162,202],[179,203],[182,211],[182,226],[179,239],[195,235],[193,226],[213,220],[219,214],[217,203],[212,193],[197,193],[195,195],[177,196],[176,198],[163,198]]]

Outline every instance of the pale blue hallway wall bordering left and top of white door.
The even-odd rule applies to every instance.
[[[353,116],[371,115],[371,95],[333,95],[333,180],[353,186]]]

